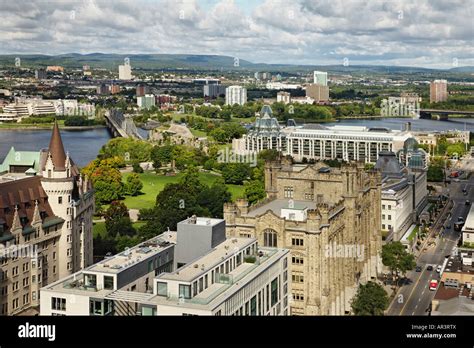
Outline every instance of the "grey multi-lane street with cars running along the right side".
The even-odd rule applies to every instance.
[[[469,159],[465,161],[465,165],[469,168],[474,165],[474,160]],[[462,189],[467,189],[467,195],[464,195]],[[459,216],[466,218],[470,206],[466,205],[466,199],[473,200],[474,198],[474,176],[469,180],[452,181],[448,185],[450,198],[453,200],[454,206],[452,208],[451,216],[446,222],[437,226],[435,235],[439,232],[441,234],[436,238],[436,245],[427,247],[428,250],[421,253],[417,260],[417,265],[422,267],[421,272],[415,270],[407,273],[409,284],[403,285],[395,299],[391,303],[388,310],[388,315],[427,315],[428,307],[433,299],[436,291],[429,290],[429,282],[431,279],[440,279],[440,275],[436,272],[438,265],[443,265],[445,257],[450,255],[453,247],[457,245],[460,238],[460,232],[454,231],[454,222]],[[449,214],[447,214],[449,216]],[[445,229],[448,223],[451,224],[449,229]],[[442,232],[444,230],[444,232]],[[426,267],[433,266],[432,271],[428,271]]]

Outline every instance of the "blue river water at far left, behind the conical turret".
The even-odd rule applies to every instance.
[[[73,161],[84,167],[97,157],[102,145],[107,143],[111,135],[107,128],[87,130],[61,130],[64,149],[69,151]],[[0,162],[13,146],[20,151],[39,151],[48,148],[51,138],[50,129],[0,129]]]

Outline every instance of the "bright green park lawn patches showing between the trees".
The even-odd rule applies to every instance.
[[[123,174],[123,181],[127,179],[129,173]],[[183,174],[176,176],[164,176],[156,175],[153,172],[145,172],[139,174],[140,179],[143,182],[142,195],[139,196],[126,196],[123,201],[129,209],[141,209],[141,208],[152,208],[156,202],[156,196],[163,190],[168,183],[179,182]],[[199,178],[203,184],[210,186],[216,181],[219,176],[211,173],[199,173]],[[242,185],[227,185],[229,192],[232,194],[232,199],[236,199],[243,195],[244,187]]]

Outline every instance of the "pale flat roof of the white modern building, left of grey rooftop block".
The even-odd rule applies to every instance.
[[[86,269],[85,272],[120,273],[132,265],[155,256],[164,249],[176,244],[176,232],[164,232],[133,248],[108,257]]]

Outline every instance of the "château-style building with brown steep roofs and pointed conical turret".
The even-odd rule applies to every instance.
[[[39,289],[92,264],[94,194],[65,152],[11,148],[0,165],[0,314],[35,314]]]

